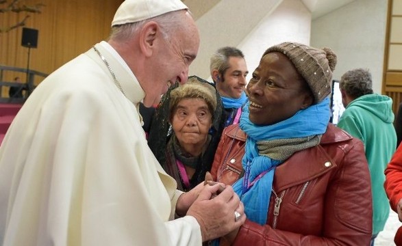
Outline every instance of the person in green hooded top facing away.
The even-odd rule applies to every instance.
[[[357,68],[342,75],[340,92],[345,111],[338,127],[364,143],[370,169],[373,193],[373,237],[384,230],[390,208],[384,190],[387,163],[397,146],[397,134],[392,122],[392,98],[373,93],[373,82],[368,70]]]

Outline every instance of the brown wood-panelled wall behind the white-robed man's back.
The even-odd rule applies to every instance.
[[[11,1],[9,1],[11,2]],[[90,46],[108,38],[110,23],[123,0],[27,0],[26,5],[44,3],[41,14],[29,13],[25,27],[38,29],[38,48],[31,49],[29,69],[47,74]],[[1,5],[1,7],[5,7]],[[0,14],[0,25],[23,20],[26,13]],[[0,34],[0,64],[27,67],[28,48],[21,46],[22,28]],[[5,74],[5,80],[25,74]]]

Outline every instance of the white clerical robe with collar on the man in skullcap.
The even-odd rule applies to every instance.
[[[0,148],[3,245],[201,245],[194,217],[147,146],[145,92],[123,59],[96,45],[35,89]]]

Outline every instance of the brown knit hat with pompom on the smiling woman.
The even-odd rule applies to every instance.
[[[316,49],[296,42],[284,42],[268,48],[264,55],[275,51],[292,61],[312,90],[314,103],[321,102],[331,93],[332,72],[336,66],[336,54],[331,49]]]

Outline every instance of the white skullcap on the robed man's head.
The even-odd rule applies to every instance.
[[[187,6],[181,0],[125,0],[114,14],[112,27],[186,9]]]

